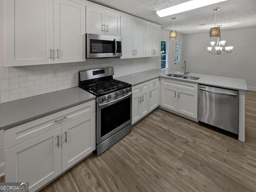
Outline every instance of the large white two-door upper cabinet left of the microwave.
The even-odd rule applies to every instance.
[[[69,0],[5,0],[4,9],[4,66],[85,61],[84,5]]]

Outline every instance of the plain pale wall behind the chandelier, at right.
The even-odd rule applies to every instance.
[[[221,29],[220,29],[221,30]],[[221,30],[226,46],[234,46],[226,55],[210,54],[207,47],[216,38],[210,32],[183,35],[183,60],[192,73],[242,78],[248,89],[256,90],[256,28]]]

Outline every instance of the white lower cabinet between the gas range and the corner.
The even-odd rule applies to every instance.
[[[158,78],[132,87],[132,124],[158,107]]]

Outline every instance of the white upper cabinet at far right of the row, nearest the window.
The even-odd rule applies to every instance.
[[[160,32],[159,26],[146,24],[146,57],[160,56]]]

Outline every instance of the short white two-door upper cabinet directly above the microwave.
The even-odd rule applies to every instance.
[[[86,6],[86,33],[120,36],[120,15]]]

